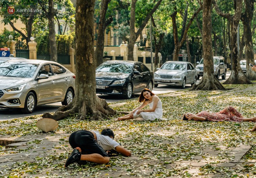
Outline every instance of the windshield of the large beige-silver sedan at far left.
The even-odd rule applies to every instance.
[[[31,78],[35,74],[38,64],[29,63],[1,63],[0,76]]]

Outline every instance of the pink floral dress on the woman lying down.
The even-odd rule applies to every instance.
[[[196,114],[199,117],[204,117],[206,121],[221,122],[221,121],[233,121],[242,122],[243,116],[234,107],[229,106],[220,112],[207,112],[202,111]]]

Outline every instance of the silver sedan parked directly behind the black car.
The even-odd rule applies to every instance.
[[[197,74],[194,66],[185,61],[167,61],[154,73],[154,86],[158,84],[173,85],[185,88],[196,83]]]

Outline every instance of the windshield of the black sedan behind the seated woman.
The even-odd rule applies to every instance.
[[[113,73],[131,73],[132,66],[132,63],[103,63],[96,69],[96,71]]]

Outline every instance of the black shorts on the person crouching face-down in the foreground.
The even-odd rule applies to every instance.
[[[109,157],[104,149],[94,139],[90,131],[76,131],[69,136],[69,144],[72,148],[80,147],[82,154],[98,153],[104,157]]]

